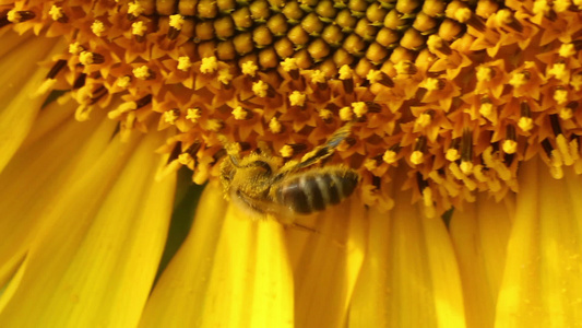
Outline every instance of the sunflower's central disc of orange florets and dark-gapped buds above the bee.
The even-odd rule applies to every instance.
[[[198,183],[223,137],[290,159],[343,127],[331,164],[384,198],[397,166],[429,212],[518,190],[536,157],[582,174],[581,0],[52,2],[3,9],[2,28],[69,45],[38,90],[70,90],[78,119],[105,110],[121,136],[200,142],[168,164]]]

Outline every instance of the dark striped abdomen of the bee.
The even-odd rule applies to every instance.
[[[274,186],[275,200],[298,214],[309,214],[340,203],[354,192],[358,180],[358,174],[352,169],[311,169]]]

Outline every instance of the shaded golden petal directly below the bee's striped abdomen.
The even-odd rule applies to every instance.
[[[366,253],[364,206],[353,197],[299,223],[316,232],[287,231],[296,288],[296,325],[343,327]]]

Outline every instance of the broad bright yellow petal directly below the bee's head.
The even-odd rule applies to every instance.
[[[282,226],[257,221],[209,185],[194,225],[157,283],[142,327],[293,327]]]

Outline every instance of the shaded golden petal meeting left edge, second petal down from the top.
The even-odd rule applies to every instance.
[[[71,102],[62,107],[76,106]],[[44,112],[52,109],[62,108],[48,106]],[[29,145],[21,148],[0,174],[0,285],[22,261],[44,223],[46,209],[54,206],[63,188],[85,174],[107,147],[116,125],[104,121],[104,117],[80,124],[70,115],[50,136],[37,142],[27,139],[24,143]],[[54,119],[46,120],[49,124]]]

